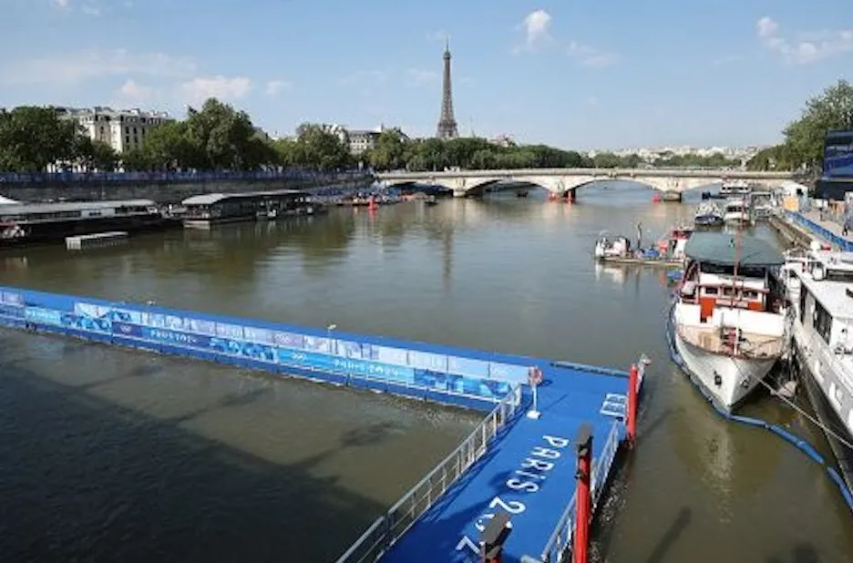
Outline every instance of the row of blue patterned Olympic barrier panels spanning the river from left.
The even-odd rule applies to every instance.
[[[483,406],[527,381],[528,366],[455,353],[275,330],[269,322],[0,288],[0,324],[307,375],[407,396]],[[283,327],[290,328],[290,327]],[[311,334],[314,332],[314,334]],[[475,355],[488,355],[471,352]]]

